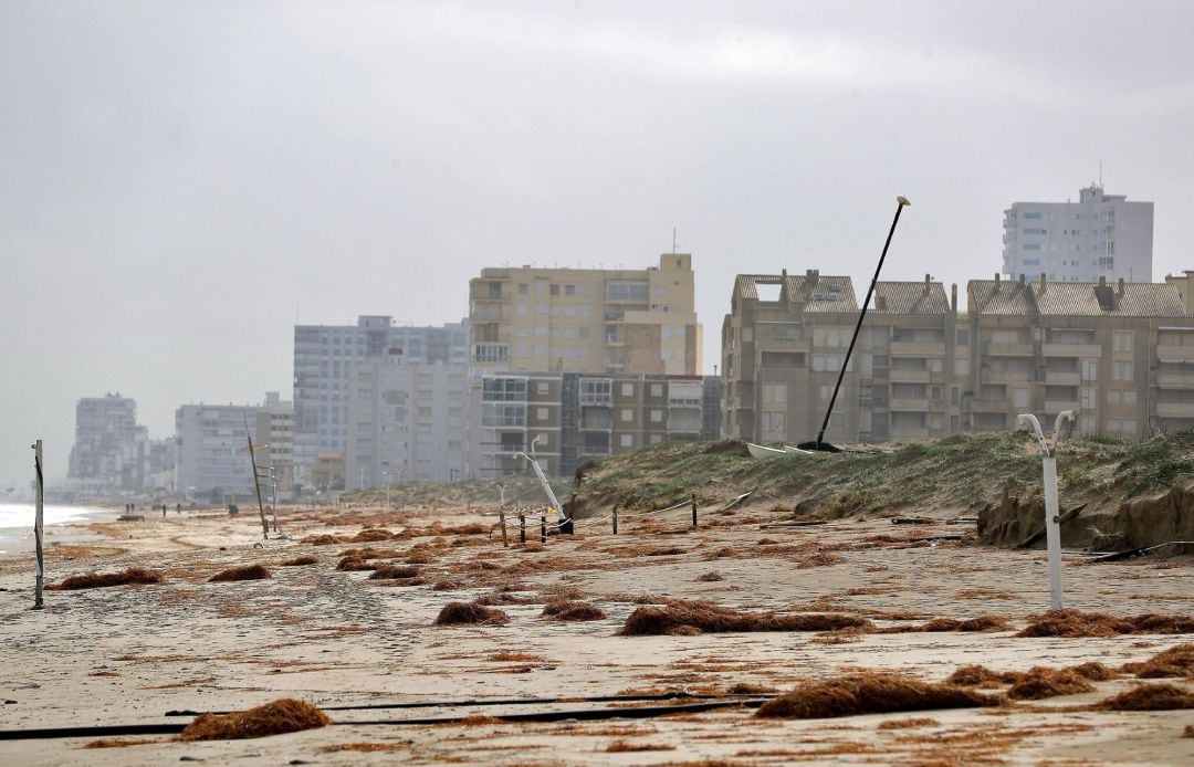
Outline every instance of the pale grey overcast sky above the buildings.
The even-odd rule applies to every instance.
[[[0,2],[0,480],[74,403],[291,389],[295,322],[467,314],[501,264],[864,289],[1001,267],[1098,177],[1194,268],[1186,2]],[[861,285],[861,287],[860,287]]]

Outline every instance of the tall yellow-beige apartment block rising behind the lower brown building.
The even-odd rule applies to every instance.
[[[693,256],[646,270],[484,268],[469,280],[475,372],[696,375]]]

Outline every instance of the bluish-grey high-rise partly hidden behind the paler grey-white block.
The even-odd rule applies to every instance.
[[[351,366],[380,355],[400,355],[412,364],[467,363],[467,326],[404,326],[389,316],[362,316],[353,326],[295,326],[294,462],[298,482],[307,483],[303,470],[326,463],[326,453],[345,453]],[[320,453],[325,453],[322,459]]]

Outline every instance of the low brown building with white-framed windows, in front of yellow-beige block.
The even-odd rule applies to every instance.
[[[585,460],[669,440],[716,439],[715,376],[487,373],[472,390],[469,472],[492,478],[525,468],[571,476]]]

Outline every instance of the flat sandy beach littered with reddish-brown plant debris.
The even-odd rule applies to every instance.
[[[973,709],[830,719],[758,719],[749,707],[604,720],[507,723],[503,715],[659,705],[586,703],[584,697],[684,691],[725,694],[736,685],[787,691],[800,681],[853,670],[891,670],[941,681],[959,666],[1027,670],[1098,661],[1143,661],[1190,636],[1018,638],[1014,631],[966,633],[812,632],[617,636],[640,604],[707,599],[749,611],[843,612],[880,626],[933,618],[999,616],[1018,630],[1048,606],[1042,552],[1013,552],[911,538],[968,532],[941,520],[910,528],[888,520],[761,528],[788,514],[746,507],[577,524],[577,536],[546,546],[503,549],[496,521],[457,511],[291,509],[289,540],[260,540],[256,515],[173,512],[162,520],[96,522],[101,542],[49,546],[47,582],[130,567],[165,582],[45,593],[33,601],[27,557],[0,559],[0,730],[185,724],[167,711],[245,710],[298,698],[336,723],[256,740],[178,742],[167,735],[96,734],[0,740],[0,763],[517,763],[784,765],[821,763],[1190,763],[1182,737],[1194,711],[1114,713],[1089,704],[1131,688],[1119,675],[1096,692]],[[432,525],[439,527],[432,528]],[[458,531],[453,531],[456,527]],[[312,545],[300,539],[363,528],[396,540]],[[537,537],[537,526],[534,528]],[[511,527],[512,542],[517,533]],[[53,538],[51,538],[53,540]],[[767,543],[773,542],[773,543]],[[421,562],[421,584],[368,580],[339,570],[362,548]],[[413,551],[412,551],[413,549]],[[677,553],[667,553],[675,550]],[[315,556],[315,564],[278,567]],[[251,564],[269,580],[208,582]],[[701,580],[715,573],[721,580]],[[1087,564],[1066,557],[1066,606],[1116,616],[1194,612],[1187,562]],[[433,587],[441,582],[441,588]],[[408,583],[400,581],[398,583]],[[505,625],[435,626],[450,601],[505,587]],[[541,616],[553,595],[585,599],[602,620]],[[1165,680],[1194,689],[1189,680]],[[1001,688],[996,688],[998,692]],[[1002,688],[1005,689],[1005,688]],[[463,706],[469,699],[548,698],[535,705]],[[756,695],[757,698],[757,695]],[[572,699],[572,701],[568,701]],[[427,707],[375,707],[427,703]],[[683,701],[681,701],[683,703]],[[414,717],[473,717],[439,725],[380,724]],[[373,724],[370,724],[373,722]],[[85,748],[97,741],[106,748]]]

